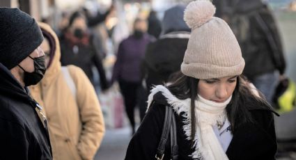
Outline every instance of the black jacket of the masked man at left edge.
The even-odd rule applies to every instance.
[[[0,159],[52,159],[37,103],[0,63]]]

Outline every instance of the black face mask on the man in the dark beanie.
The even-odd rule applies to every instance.
[[[41,79],[43,78],[46,67],[45,67],[45,56],[40,56],[36,58],[32,58],[34,61],[34,72],[26,72],[24,68],[22,68],[20,65],[18,65],[22,70],[24,70],[24,86],[31,86],[36,85]]]

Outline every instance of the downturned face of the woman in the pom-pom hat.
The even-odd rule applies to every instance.
[[[198,81],[198,94],[212,102],[225,102],[233,94],[237,83],[237,76],[219,79],[200,79]]]

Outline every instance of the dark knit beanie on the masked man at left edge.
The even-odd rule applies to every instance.
[[[0,8],[0,63],[8,70],[22,62],[42,42],[35,19],[17,8]]]

